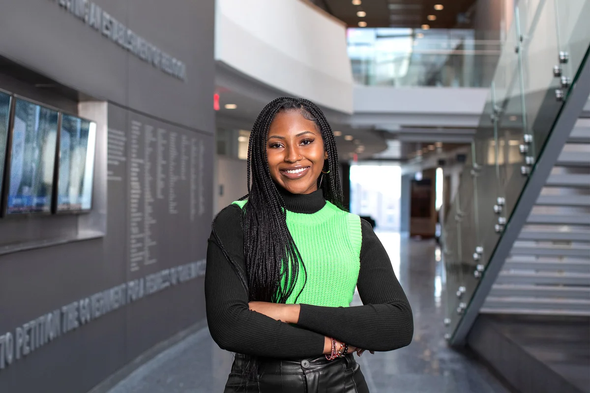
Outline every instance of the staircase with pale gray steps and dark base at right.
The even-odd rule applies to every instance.
[[[590,113],[582,115],[468,336],[519,392],[590,393]]]

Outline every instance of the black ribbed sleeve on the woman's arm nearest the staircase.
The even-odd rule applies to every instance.
[[[411,307],[385,248],[364,220],[357,288],[363,306],[301,304],[298,325],[372,351],[408,345],[414,335]]]

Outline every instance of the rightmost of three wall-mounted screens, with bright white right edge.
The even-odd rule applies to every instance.
[[[61,115],[57,211],[85,211],[92,206],[96,123]]]

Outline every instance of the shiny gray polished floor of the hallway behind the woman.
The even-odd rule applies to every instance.
[[[379,237],[412,305],[415,333],[407,348],[358,358],[371,393],[508,393],[484,366],[446,345],[445,280],[435,243],[389,232]],[[360,304],[358,296],[355,303]],[[160,353],[109,393],[222,392],[231,362],[231,354],[221,351],[203,329]]]

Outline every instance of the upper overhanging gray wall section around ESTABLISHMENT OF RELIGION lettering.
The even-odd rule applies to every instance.
[[[183,61],[186,83],[111,42],[61,8],[60,1],[0,0],[0,55],[93,97],[213,132],[213,0],[94,1]]]

